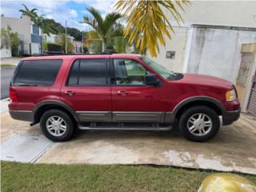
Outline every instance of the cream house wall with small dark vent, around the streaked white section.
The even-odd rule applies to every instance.
[[[188,62],[185,50],[190,48],[189,36],[192,31],[188,29],[192,24],[256,27],[256,1],[191,1],[184,9],[185,12],[180,10],[184,20],[180,22],[180,26],[173,21],[170,13],[166,12],[170,22],[175,26],[175,33],[172,34],[172,39],[166,37],[166,46],[160,46],[157,58],[153,58],[154,61],[176,72],[186,71],[183,63]],[[234,46],[234,43],[230,46]],[[167,50],[176,51],[174,59],[166,59]],[[148,56],[150,57],[150,54]]]

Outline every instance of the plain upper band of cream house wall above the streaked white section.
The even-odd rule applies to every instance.
[[[189,6],[180,10],[184,22],[217,26],[256,27],[256,1],[191,1]],[[169,15],[170,21],[173,17]]]

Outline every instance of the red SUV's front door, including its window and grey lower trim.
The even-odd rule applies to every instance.
[[[163,122],[167,107],[165,85],[147,86],[144,76],[150,70],[131,59],[113,59],[112,68],[113,121]]]

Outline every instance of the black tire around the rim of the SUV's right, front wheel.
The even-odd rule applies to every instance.
[[[211,120],[211,129],[209,129],[209,132],[204,135],[195,135],[190,133],[190,130],[188,128],[188,121],[190,117],[196,114],[206,114]],[[193,106],[190,107],[189,109],[185,110],[181,117],[178,119],[178,126],[181,131],[181,133],[184,135],[185,138],[194,141],[194,142],[205,142],[209,140],[210,138],[213,138],[219,130],[220,127],[220,121],[218,118],[218,114],[211,109],[208,106]],[[198,131],[198,130],[196,130]]]

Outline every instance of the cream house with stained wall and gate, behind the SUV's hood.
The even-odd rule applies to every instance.
[[[256,60],[251,48],[256,43],[256,2],[192,1],[185,10],[180,26],[168,14],[175,33],[153,59],[176,72],[214,75],[234,85],[239,77],[246,77],[246,88],[238,89],[238,95],[242,111],[251,112],[256,103]]]

